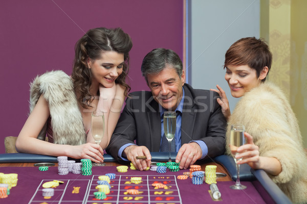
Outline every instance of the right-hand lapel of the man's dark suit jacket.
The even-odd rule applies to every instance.
[[[193,107],[195,105],[191,91],[187,86],[183,86],[185,92],[183,113],[181,120],[181,145],[192,140],[196,112]]]

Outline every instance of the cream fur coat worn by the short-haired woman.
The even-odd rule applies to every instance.
[[[282,171],[269,175],[293,203],[307,203],[307,157],[302,146],[298,121],[282,91],[272,83],[262,83],[237,103],[226,136],[229,149],[230,126],[245,125],[259,146],[260,156],[279,160]]]

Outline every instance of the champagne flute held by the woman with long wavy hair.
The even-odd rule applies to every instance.
[[[92,135],[96,144],[100,144],[104,135],[104,115],[103,112],[92,112]],[[93,163],[93,166],[105,166],[105,163]]]

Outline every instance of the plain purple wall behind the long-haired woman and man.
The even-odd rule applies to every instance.
[[[0,153],[4,138],[18,136],[27,119],[29,83],[47,70],[71,74],[76,41],[97,27],[121,27],[131,36],[131,91],[149,90],[140,66],[151,49],[183,56],[183,0],[1,1]]]

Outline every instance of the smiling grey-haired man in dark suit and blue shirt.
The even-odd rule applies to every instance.
[[[226,120],[216,101],[218,94],[185,84],[182,61],[170,49],[153,49],[143,59],[141,70],[151,92],[129,94],[106,151],[118,161],[129,160],[137,169],[146,169],[151,163],[150,151],[164,151],[168,145],[164,111],[176,111],[172,146],[178,151],[176,162],[181,169],[224,154]]]

